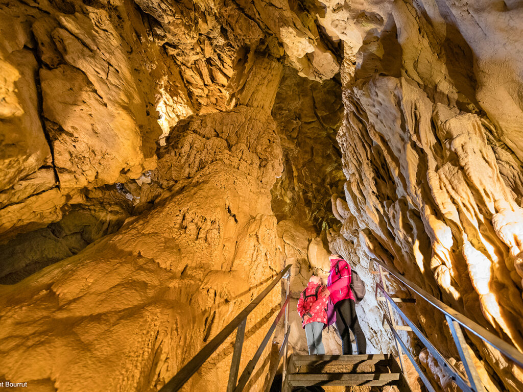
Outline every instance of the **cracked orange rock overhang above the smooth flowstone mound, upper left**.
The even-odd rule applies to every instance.
[[[339,47],[314,14],[220,1],[2,3],[0,246],[92,209],[93,192],[120,191],[123,219],[149,208],[133,195],[149,183],[170,128],[192,113],[266,101],[242,100],[259,55],[332,77]]]

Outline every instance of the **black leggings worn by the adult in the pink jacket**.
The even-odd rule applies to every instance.
[[[356,347],[358,354],[367,353],[367,340],[359,325],[358,316],[356,315],[356,303],[352,299],[342,299],[334,305],[336,310],[336,327],[338,328],[339,337],[342,338],[343,354],[352,354],[353,345],[350,342],[350,332],[353,331],[356,338]]]

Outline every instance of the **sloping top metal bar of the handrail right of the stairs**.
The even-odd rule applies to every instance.
[[[440,312],[444,313],[448,318],[458,322],[458,324],[461,325],[463,328],[466,328],[470,332],[474,333],[474,335],[481,338],[483,341],[487,342],[488,344],[491,344],[493,347],[498,349],[500,352],[502,352],[504,355],[506,355],[508,358],[510,358],[512,361],[514,361],[516,364],[523,368],[523,354],[520,351],[518,351],[518,349],[516,349],[513,345],[497,337],[496,335],[494,335],[494,333],[488,331],[486,328],[472,321],[467,316],[462,315],[461,313],[452,309],[450,306],[439,301],[439,299],[430,295],[421,287],[406,279],[403,275],[393,271],[390,267],[385,266],[385,264],[383,264],[381,261],[376,259],[374,259],[374,261],[380,264],[380,266],[387,270],[392,276],[394,276],[394,278],[405,284],[420,297],[423,297],[425,301],[427,301],[429,304],[439,309]]]

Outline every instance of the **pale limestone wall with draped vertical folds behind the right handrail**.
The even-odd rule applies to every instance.
[[[521,8],[427,0],[380,9],[382,28],[368,31],[357,52],[345,48],[338,142],[347,181],[333,197],[343,225],[331,247],[348,247],[364,265],[385,261],[521,349],[515,119],[523,75],[520,35],[512,34]],[[417,311],[420,327],[459,361],[444,317],[423,304]],[[488,390],[523,387],[520,369],[469,339]],[[453,390],[427,353],[420,360]]]

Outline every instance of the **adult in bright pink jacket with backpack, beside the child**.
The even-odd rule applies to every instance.
[[[367,353],[367,340],[359,325],[356,314],[356,301],[354,293],[350,289],[351,270],[350,266],[339,255],[329,256],[331,260],[331,271],[327,280],[327,291],[323,296],[329,296],[336,311],[336,328],[342,339],[343,354],[352,354],[353,346],[350,342],[350,332],[353,331],[356,338],[358,354]]]

